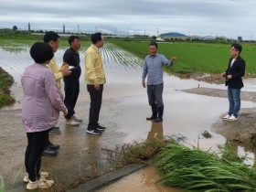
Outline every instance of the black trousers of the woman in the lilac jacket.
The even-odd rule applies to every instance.
[[[44,132],[27,133],[27,149],[25,167],[30,181],[36,181],[41,167],[41,157],[46,148],[48,130]]]

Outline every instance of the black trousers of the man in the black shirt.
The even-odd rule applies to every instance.
[[[64,103],[69,111],[68,115],[66,115],[65,118],[70,119],[75,113],[74,109],[80,93],[80,80],[64,79],[64,91]]]

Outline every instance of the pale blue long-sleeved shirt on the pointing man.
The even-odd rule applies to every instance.
[[[164,55],[156,53],[155,56],[146,56],[144,59],[144,71],[142,79],[147,76],[147,85],[160,85],[163,81],[163,66],[172,66],[173,61],[165,58]]]

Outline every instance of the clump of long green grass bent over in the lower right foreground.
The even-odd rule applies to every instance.
[[[167,144],[157,155],[159,182],[186,191],[256,191],[256,172],[243,163],[182,144]]]

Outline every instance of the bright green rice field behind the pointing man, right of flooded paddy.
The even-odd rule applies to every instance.
[[[141,59],[148,54],[148,43],[139,41],[111,40],[112,43],[124,48]],[[171,72],[186,74],[191,72],[218,74],[226,70],[230,58],[231,44],[173,42],[159,43],[158,52],[167,59],[176,56],[176,64],[169,68]],[[242,43],[241,57],[246,61],[246,74],[256,75],[256,46],[252,43]]]

